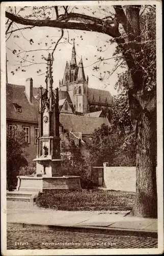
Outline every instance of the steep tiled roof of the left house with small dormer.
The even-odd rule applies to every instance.
[[[7,83],[6,95],[7,118],[26,122],[38,122],[39,103],[35,97],[33,97],[33,104],[29,103],[25,95],[24,86]],[[13,103],[21,106],[21,113],[16,112]]]

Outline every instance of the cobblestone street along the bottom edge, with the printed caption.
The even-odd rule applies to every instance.
[[[28,242],[28,245],[17,245]],[[49,243],[49,244],[46,244]],[[7,249],[157,248],[157,239],[108,234],[7,228]]]

